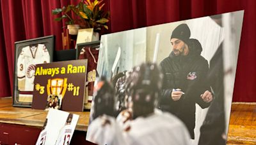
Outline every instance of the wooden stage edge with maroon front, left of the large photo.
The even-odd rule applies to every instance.
[[[0,98],[0,144],[35,144],[48,111],[13,107],[12,97]],[[90,112],[79,115],[70,144],[92,144],[85,140]]]

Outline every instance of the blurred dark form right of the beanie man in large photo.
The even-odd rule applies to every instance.
[[[224,111],[224,73],[223,73],[223,50],[222,43],[210,60],[208,80],[214,92],[214,100],[205,116],[203,125],[200,127],[198,145],[226,144],[223,139],[225,134],[225,111]]]

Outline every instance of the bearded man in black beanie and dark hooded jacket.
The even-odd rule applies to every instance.
[[[191,139],[195,139],[195,104],[209,107],[212,93],[205,79],[209,65],[200,55],[202,46],[197,39],[189,38],[187,24],[180,24],[172,32],[172,52],[160,64],[164,80],[159,108],[180,118]]]

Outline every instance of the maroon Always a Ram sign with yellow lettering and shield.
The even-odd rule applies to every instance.
[[[36,65],[32,108],[83,111],[86,70],[86,59]]]

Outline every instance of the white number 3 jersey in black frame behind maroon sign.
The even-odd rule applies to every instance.
[[[31,107],[36,64],[52,62],[54,36],[15,42],[13,106]]]

